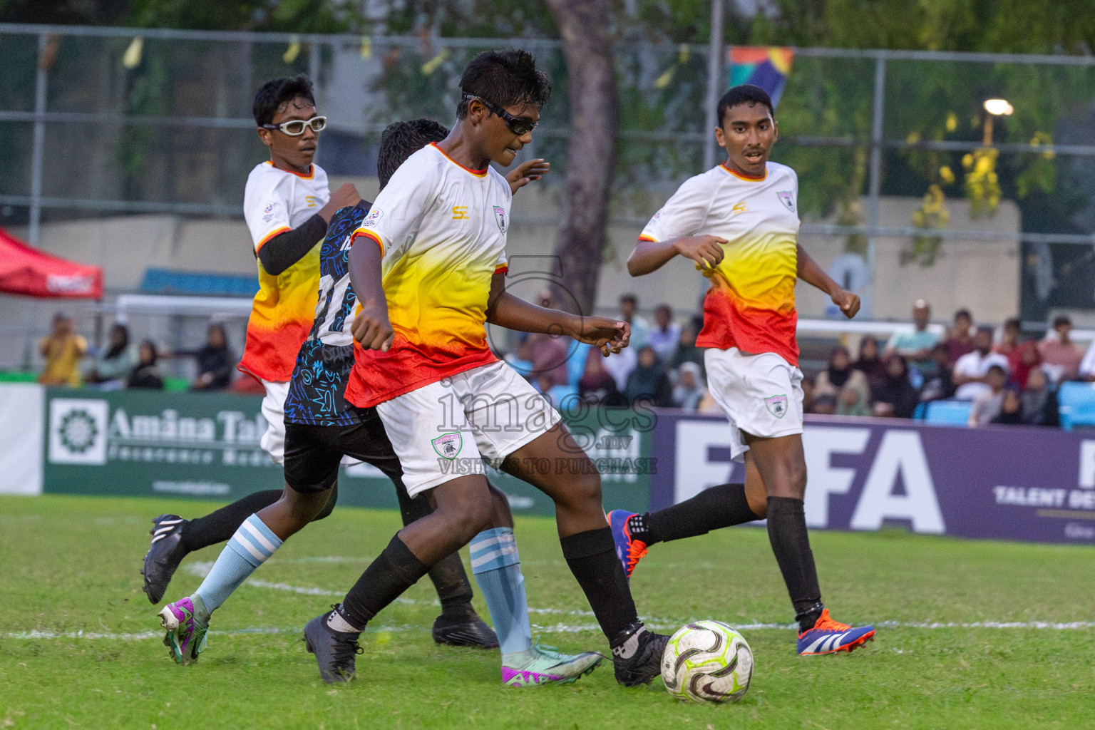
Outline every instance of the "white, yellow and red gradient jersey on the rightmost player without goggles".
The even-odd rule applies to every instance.
[[[742,177],[725,165],[691,177],[654,215],[639,241],[717,235],[725,257],[704,270],[696,347],[774,352],[798,364],[795,281],[798,279],[798,176],[768,163],[763,177]]]

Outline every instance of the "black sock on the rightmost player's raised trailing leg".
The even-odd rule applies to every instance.
[[[721,484],[704,489],[679,505],[657,512],[635,514],[627,520],[627,529],[632,537],[653,545],[670,540],[694,537],[712,530],[760,519],[761,517],[749,508],[746,485]]]

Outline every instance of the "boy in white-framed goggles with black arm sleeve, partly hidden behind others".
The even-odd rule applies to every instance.
[[[244,192],[244,218],[258,259],[260,291],[247,322],[246,348],[240,370],[262,381],[262,412],[268,424],[263,449],[278,464],[285,461],[285,401],[301,344],[315,315],[320,286],[320,248],[334,213],[361,197],[350,184],[331,195],[326,173],[314,163],[319,132],[326,118],[316,116],[312,83],[306,76],[275,79],[258,90],[252,107],[258,137],[270,159],[255,166]],[[516,188],[538,179],[546,163],[533,160],[510,173]],[[423,500],[412,500],[393,479],[404,522],[429,513]],[[323,511],[334,508],[337,488]],[[152,544],[141,570],[149,601],[159,603],[183,558],[193,551],[230,540],[254,513],[270,507],[281,489],[247,495],[208,515],[184,520],[161,514],[153,520]],[[441,603],[434,623],[438,644],[495,648],[495,633],[471,605],[472,589],[458,555],[430,571]]]

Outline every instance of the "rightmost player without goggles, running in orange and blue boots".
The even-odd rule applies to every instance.
[[[852,651],[875,629],[829,617],[806,531],[795,281],[825,291],[848,317],[858,312],[860,298],[798,244],[798,177],[768,159],[777,137],[768,94],[734,86],[718,103],[718,119],[726,162],[685,181],[654,215],[627,269],[642,276],[679,255],[711,280],[696,346],[708,348],[707,385],[730,422],[731,454],[745,462],[746,480],[657,512],[614,510],[616,553],[630,576],[654,543],[766,518],[800,629],[798,653]]]

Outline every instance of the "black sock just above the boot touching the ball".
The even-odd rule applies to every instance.
[[[627,577],[615,555],[612,530],[601,528],[562,537],[563,557],[586,593],[597,623],[609,640],[638,622]]]

